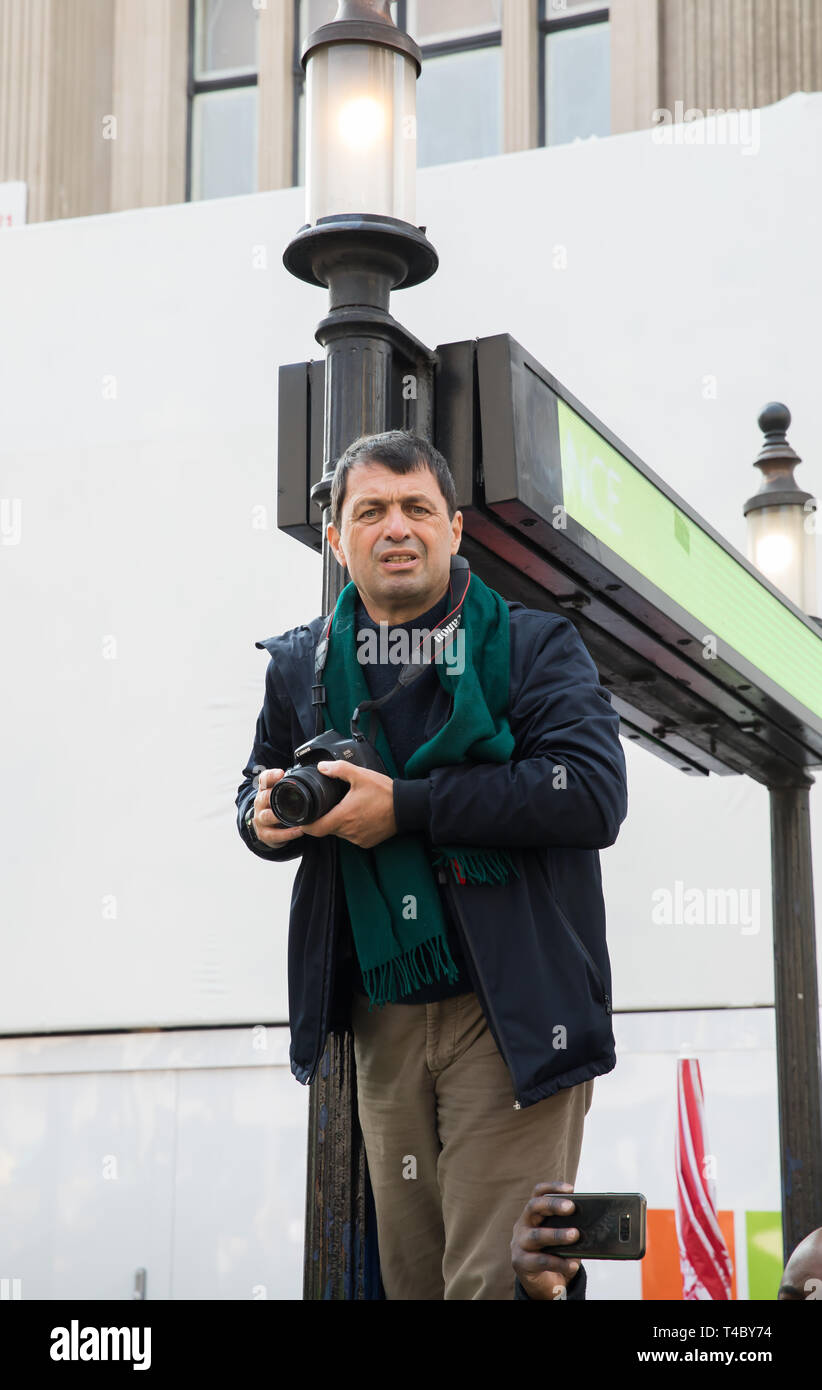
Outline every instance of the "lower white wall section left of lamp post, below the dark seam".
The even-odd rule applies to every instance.
[[[0,1042],[0,1277],[21,1298],[300,1298],[288,1029]],[[8,1294],[4,1294],[8,1297]]]

